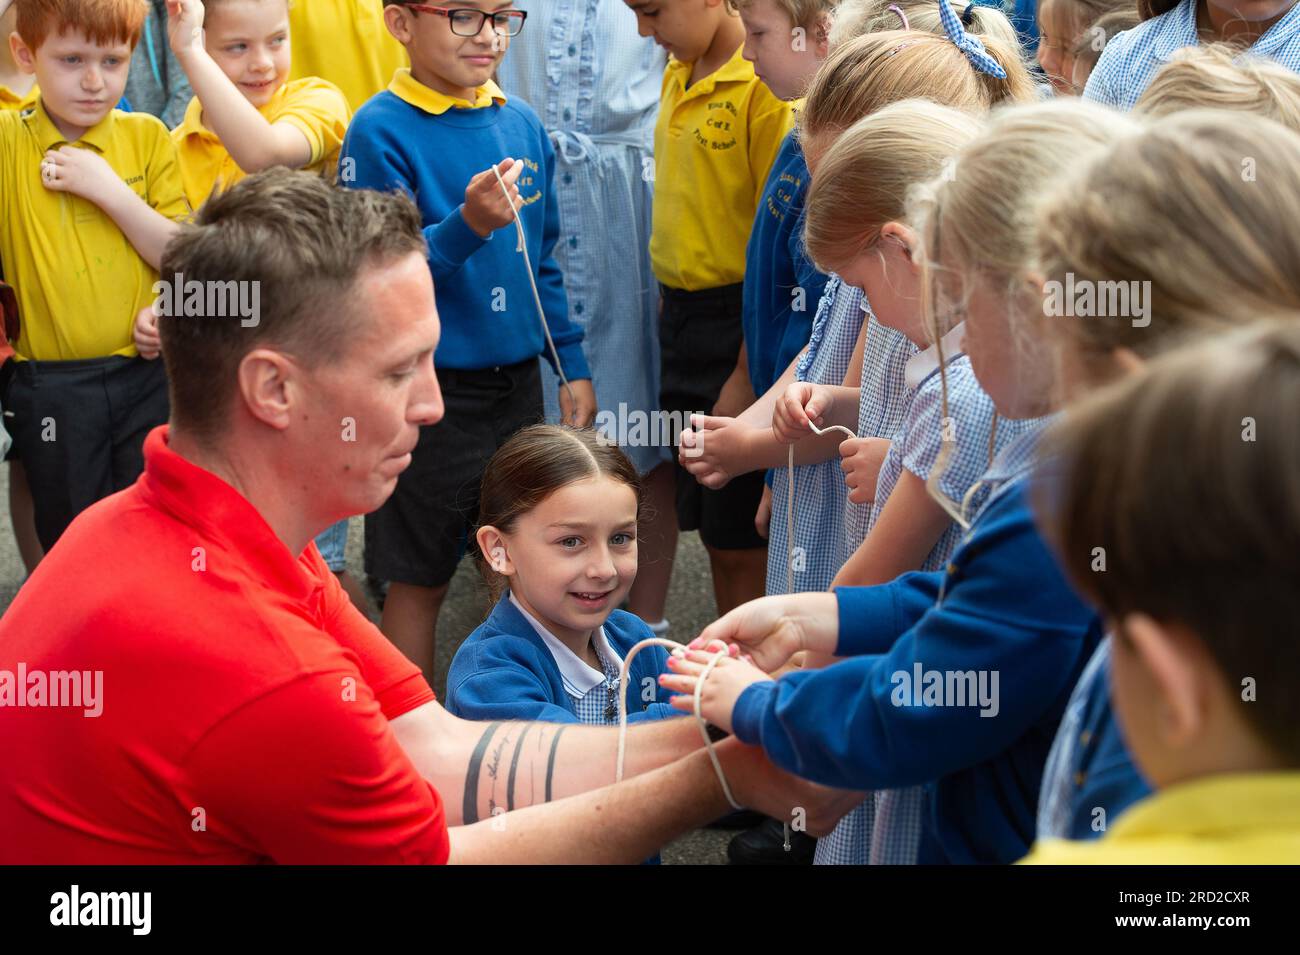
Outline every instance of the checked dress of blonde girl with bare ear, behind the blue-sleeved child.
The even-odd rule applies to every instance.
[[[949,500],[961,504],[966,492],[993,464],[989,460],[989,433],[993,429],[994,408],[965,355],[953,356],[946,363],[946,376],[948,417],[953,425],[956,446],[939,478],[939,489]],[[1041,418],[998,420],[993,453],[1024,434],[1036,433],[1041,425]],[[922,479],[930,478],[944,444],[942,438],[942,378],[935,368],[915,388],[907,391],[904,424],[889,446],[876,479],[876,502],[880,507],[871,513],[868,534],[904,469]],[[946,564],[963,534],[962,525],[953,521],[918,569],[937,570]],[[926,790],[922,786],[876,790],[841,819],[831,835],[818,842],[815,860],[823,865],[915,864],[924,813]]]

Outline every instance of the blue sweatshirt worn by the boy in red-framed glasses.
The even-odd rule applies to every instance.
[[[399,79],[402,74],[394,86]],[[442,321],[436,366],[473,370],[540,355],[554,366],[524,256],[516,251],[515,225],[482,239],[462,214],[469,179],[507,156],[525,162],[517,183],[524,199],[519,214],[560,364],[572,381],[590,378],[582,329],[569,321],[564,282],[552,256],[560,231],[551,187],[555,149],[532,107],[512,97],[434,114],[390,87],[352,117],[339,152],[339,181],[351,188],[400,188],[420,207]]]

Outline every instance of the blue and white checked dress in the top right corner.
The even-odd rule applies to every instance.
[[[1101,52],[1083,97],[1117,109],[1132,109],[1156,71],[1176,51],[1197,43],[1200,34],[1196,30],[1196,3],[1183,0],[1169,13],[1117,34]],[[1300,73],[1300,5],[1287,10],[1282,19],[1244,52]]]

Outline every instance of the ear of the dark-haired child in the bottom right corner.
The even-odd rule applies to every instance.
[[[1160,713],[1154,729],[1160,741],[1179,750],[1195,745],[1205,730],[1213,689],[1200,665],[1204,651],[1182,630],[1158,624],[1145,613],[1128,615],[1121,626],[1154,687]]]

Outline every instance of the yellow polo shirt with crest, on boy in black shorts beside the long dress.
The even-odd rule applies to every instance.
[[[740,49],[688,90],[692,68],[670,60],[663,71],[650,262],[666,286],[698,291],[745,278],[749,230],[794,112]]]

